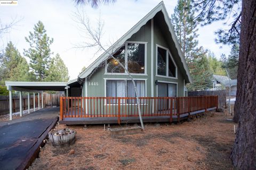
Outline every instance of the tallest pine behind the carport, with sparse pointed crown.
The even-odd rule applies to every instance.
[[[42,81],[46,77],[49,69],[51,49],[53,39],[47,37],[46,30],[41,21],[35,24],[34,32],[29,32],[25,37],[30,48],[24,49],[24,55],[30,59],[30,67],[35,72],[37,80]]]

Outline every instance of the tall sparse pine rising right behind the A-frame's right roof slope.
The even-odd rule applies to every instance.
[[[197,22],[194,20],[194,13],[190,0],[178,0],[174,14],[171,15],[172,25],[188,66],[193,62],[198,45],[196,40],[198,29],[196,28]]]

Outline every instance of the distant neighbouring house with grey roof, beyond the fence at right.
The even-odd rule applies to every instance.
[[[237,79],[230,79],[230,96],[236,96]],[[229,93],[229,79],[227,76],[213,74],[213,88],[212,90],[226,89],[227,95]]]

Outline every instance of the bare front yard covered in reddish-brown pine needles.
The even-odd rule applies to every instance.
[[[209,112],[180,124],[146,124],[142,133],[115,138],[103,125],[68,126],[77,131],[75,145],[57,149],[46,143],[29,169],[233,169],[234,123],[227,118]]]

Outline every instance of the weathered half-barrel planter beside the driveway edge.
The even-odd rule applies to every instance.
[[[53,129],[49,132],[49,138],[52,146],[56,148],[67,147],[75,143],[76,131],[71,129]]]

